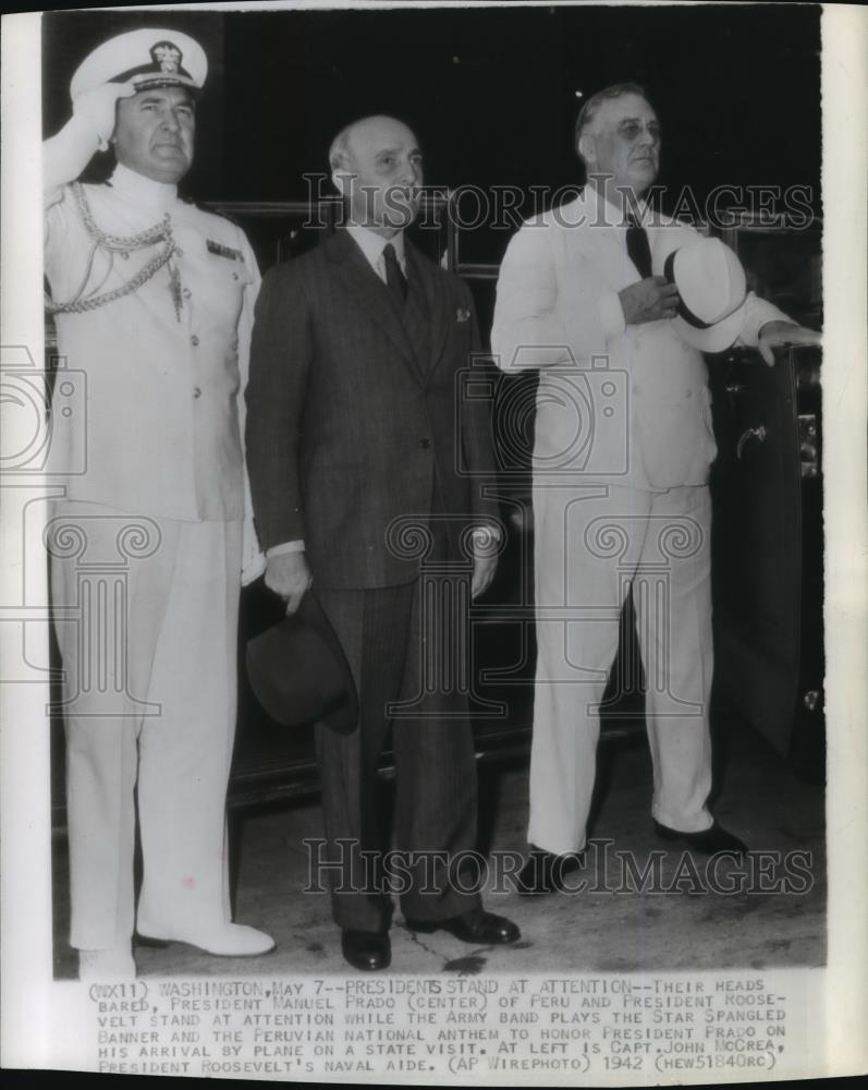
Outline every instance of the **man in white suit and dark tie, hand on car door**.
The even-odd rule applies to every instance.
[[[706,804],[708,474],[716,446],[695,343],[706,336],[709,349],[721,350],[737,336],[771,364],[773,347],[817,339],[754,295],[735,300],[741,305],[708,332],[680,336],[672,319],[684,307],[662,274],[668,257],[689,253],[700,237],[652,218],[641,201],[657,177],[660,129],[640,87],[620,84],[588,99],[576,150],[587,185],[512,239],[491,336],[504,371],[540,372],[530,855],[518,883],[528,894],[563,889],[565,871],[580,860],[599,703],[631,589],[647,678],[657,832],[705,853],[745,850]],[[686,317],[692,325],[682,317],[682,328],[704,325]]]

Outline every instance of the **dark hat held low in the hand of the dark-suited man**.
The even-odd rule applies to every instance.
[[[272,719],[292,727],[322,720],[349,734],[358,695],[334,629],[313,591],[294,614],[247,643],[247,677]]]

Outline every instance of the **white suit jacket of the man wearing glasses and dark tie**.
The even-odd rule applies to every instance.
[[[491,348],[506,372],[539,368],[535,483],[660,491],[700,485],[717,453],[705,360],[669,320],[625,326],[618,293],[640,279],[621,216],[586,186],[525,222],[498,280]],[[694,241],[684,223],[647,225],[652,272]],[[777,307],[748,295],[739,341],[756,346]]]

